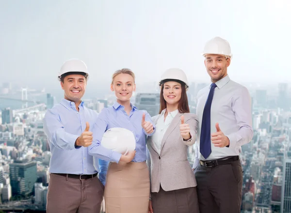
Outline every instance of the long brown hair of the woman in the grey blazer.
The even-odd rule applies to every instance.
[[[162,110],[167,108],[167,102],[163,97],[163,88],[164,88],[164,84],[162,84],[162,86],[161,86],[160,112],[159,112],[159,114],[161,114]],[[184,85],[181,85],[181,89],[182,89],[182,92],[181,92],[181,98],[180,98],[179,103],[178,103],[178,110],[180,113],[190,112],[189,104],[188,104],[188,97],[187,97],[187,93],[186,93],[186,87]]]

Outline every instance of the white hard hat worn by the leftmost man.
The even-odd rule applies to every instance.
[[[81,72],[89,76],[86,64],[79,59],[70,59],[63,63],[58,77],[60,78],[65,73]]]

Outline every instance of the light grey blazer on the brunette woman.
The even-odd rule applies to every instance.
[[[180,135],[180,116],[190,125],[192,138],[184,141]],[[152,117],[157,123],[161,114]],[[197,185],[194,172],[187,159],[188,146],[196,140],[198,119],[192,113],[179,113],[174,117],[162,138],[161,153],[158,154],[152,137],[147,137],[147,166],[150,170],[151,192],[159,192],[160,184],[165,191],[194,187]],[[156,131],[159,131],[157,129]]]

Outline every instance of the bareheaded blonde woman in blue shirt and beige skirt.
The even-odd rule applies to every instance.
[[[106,213],[146,213],[150,190],[146,136],[154,133],[155,125],[145,110],[138,110],[130,103],[132,92],[135,91],[135,76],[131,70],[117,70],[112,77],[111,90],[115,92],[117,100],[113,106],[104,108],[99,114],[89,154],[110,161],[104,193]],[[107,131],[104,137],[112,135],[116,139],[116,135],[122,136],[120,134],[125,133],[120,127],[133,133],[135,151],[121,154],[101,146],[101,140],[102,143],[110,141],[102,138],[104,132],[112,131]],[[124,137],[118,137],[120,143],[123,140],[121,138]],[[112,138],[111,143],[115,143],[115,139]],[[128,148],[126,141],[124,146]]]

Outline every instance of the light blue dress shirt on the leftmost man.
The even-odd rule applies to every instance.
[[[100,181],[105,184],[108,163],[88,154],[88,147],[75,147],[76,139],[89,122],[90,129],[97,121],[98,113],[75,103],[62,99],[61,103],[48,109],[44,118],[44,131],[48,137],[51,158],[49,172],[65,174],[95,174],[99,172]],[[100,164],[100,165],[99,165]],[[100,168],[99,168],[100,166]]]

